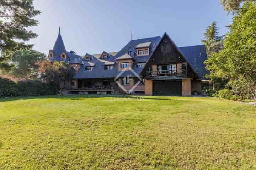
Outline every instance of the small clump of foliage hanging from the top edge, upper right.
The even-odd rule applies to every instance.
[[[236,13],[239,11],[241,3],[246,1],[255,2],[255,0],[220,0],[220,4],[223,5],[225,11]]]

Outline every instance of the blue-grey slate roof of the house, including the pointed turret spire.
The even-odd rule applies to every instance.
[[[166,33],[165,33],[166,34]],[[164,35],[165,35],[164,34]],[[60,32],[58,34],[58,38],[55,42],[53,51],[54,57],[49,58],[51,62],[53,61],[66,61],[69,64],[81,64],[80,69],[74,76],[74,79],[89,79],[89,78],[114,78],[116,77],[121,71],[118,71],[118,63],[116,60],[119,59],[133,59],[134,63],[146,63],[149,60],[149,57],[152,55],[156,47],[158,46],[161,40],[160,36],[151,37],[151,38],[144,38],[144,39],[136,39],[131,40],[126,46],[123,47],[119,52],[112,52],[107,53],[103,51],[103,53],[107,53],[108,58],[102,59],[100,58],[101,54],[91,55],[86,53],[86,55],[90,55],[90,60],[84,60],[84,56],[79,56],[73,52],[66,52],[62,36]],[[136,56],[136,47],[145,47],[149,46],[149,55],[146,56]],[[180,47],[177,48],[191,67],[198,73],[200,79],[204,79],[203,76],[207,74],[207,70],[204,67],[204,60],[207,59],[206,49],[204,45],[199,46],[188,46],[188,47]],[[134,55],[128,55],[128,51],[133,51]],[[67,55],[66,59],[60,57],[60,54],[65,52]],[[104,70],[106,65],[113,65],[112,70]],[[85,67],[93,66],[91,71],[84,71]],[[136,68],[136,64],[133,64],[132,69],[137,73],[140,74],[142,72],[142,68]],[[133,75],[131,71],[126,71],[122,74],[122,76],[126,75]]]

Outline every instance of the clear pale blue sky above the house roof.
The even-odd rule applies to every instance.
[[[178,47],[200,45],[205,28],[213,21],[225,34],[232,16],[219,0],[34,0],[39,37],[28,43],[48,55],[60,26],[67,51],[79,55],[119,51],[133,39],[162,36],[167,32]]]

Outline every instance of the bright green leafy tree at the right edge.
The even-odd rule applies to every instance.
[[[206,61],[211,76],[243,79],[256,102],[256,3],[245,2],[233,17],[224,49]]]

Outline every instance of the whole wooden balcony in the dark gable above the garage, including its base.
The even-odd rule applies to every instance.
[[[186,69],[180,70],[158,70],[158,71],[147,71],[147,79],[161,79],[161,80],[173,80],[173,79],[186,79]]]

